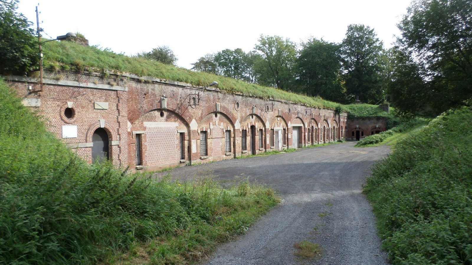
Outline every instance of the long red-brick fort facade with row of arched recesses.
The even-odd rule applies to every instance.
[[[39,78],[8,79],[24,104],[89,163],[100,145],[117,166],[156,170],[300,148],[351,133],[346,113],[153,77],[45,72],[42,91]],[[99,137],[103,130],[108,139]]]

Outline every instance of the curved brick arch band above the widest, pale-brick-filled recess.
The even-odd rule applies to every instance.
[[[189,124],[192,122],[194,117],[192,114],[190,114],[189,111],[186,111],[187,109],[185,108],[184,110],[181,110],[181,104],[177,105],[175,102],[171,102],[170,100],[167,101],[167,110],[170,110],[180,116],[189,126]],[[164,109],[161,108],[162,106],[160,105],[160,100],[156,99],[146,99],[144,100],[143,103],[139,105],[139,108],[136,108],[134,111],[129,111],[128,113],[128,121],[131,124],[134,124],[137,119],[139,119],[141,116],[144,114],[155,110],[155,109]]]

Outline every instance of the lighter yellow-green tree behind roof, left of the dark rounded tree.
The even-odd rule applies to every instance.
[[[296,44],[279,36],[259,38],[255,50],[261,55],[256,60],[254,69],[259,75],[258,83],[290,90],[295,82]]]

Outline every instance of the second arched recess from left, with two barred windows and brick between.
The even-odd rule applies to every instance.
[[[212,157],[213,160],[233,158],[235,153],[235,124],[223,112],[211,112],[198,124],[201,159]],[[206,138],[206,139],[205,139]]]

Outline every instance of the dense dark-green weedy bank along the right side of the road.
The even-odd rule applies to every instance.
[[[375,164],[364,192],[394,264],[472,264],[472,107],[438,116]]]

